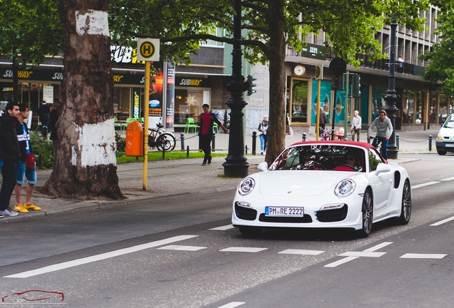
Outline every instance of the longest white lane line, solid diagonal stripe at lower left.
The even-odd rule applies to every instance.
[[[198,237],[198,235],[178,235],[176,237],[169,237],[168,239],[165,239],[165,240],[158,240],[158,241],[155,241],[155,242],[149,242],[149,243],[146,243],[146,244],[141,244],[141,245],[137,245],[137,246],[133,246],[133,247],[123,248],[121,250],[114,250],[114,251],[111,251],[111,252],[105,252],[105,253],[100,254],[100,255],[94,255],[94,256],[91,256],[91,257],[84,257],[84,258],[81,258],[81,259],[76,259],[76,260],[72,260],[72,261],[68,261],[68,262],[58,263],[56,265],[49,265],[49,266],[46,266],[46,267],[41,267],[41,268],[36,269],[36,270],[29,270],[29,271],[21,272],[21,273],[18,273],[18,274],[11,274],[11,275],[8,275],[8,276],[4,276],[4,278],[28,278],[28,277],[36,276],[36,275],[39,275],[39,274],[45,274],[45,273],[48,273],[48,272],[55,272],[57,270],[64,270],[66,268],[75,267],[77,265],[84,265],[84,264],[91,263],[91,262],[96,262],[96,261],[99,261],[99,260],[106,260],[106,259],[109,259],[111,257],[118,257],[118,256],[121,256],[121,255],[129,254],[131,252],[138,252],[138,251],[141,251],[141,250],[146,250],[148,248],[153,248],[153,247],[157,247],[157,246],[161,246],[161,245],[170,244],[172,242],[178,242],[178,241],[181,241],[181,240],[188,240],[188,239],[190,239],[192,237]]]

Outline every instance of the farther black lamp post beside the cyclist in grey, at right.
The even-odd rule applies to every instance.
[[[393,17],[391,21],[388,91],[386,91],[386,95],[383,97],[386,102],[385,111],[393,125],[393,133],[391,134],[388,143],[388,158],[391,159],[397,159],[399,151],[395,145],[395,112],[398,111],[398,108],[395,107],[395,103],[400,99],[400,96],[395,92],[395,29],[397,28],[397,25],[395,17]]]

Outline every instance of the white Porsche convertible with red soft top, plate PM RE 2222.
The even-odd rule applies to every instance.
[[[411,214],[405,168],[388,163],[368,143],[306,141],[286,148],[243,180],[232,224],[244,235],[265,227],[349,228],[367,237],[373,222]]]

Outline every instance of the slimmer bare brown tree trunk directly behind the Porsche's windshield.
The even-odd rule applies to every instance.
[[[268,25],[270,29],[270,114],[266,162],[271,165],[286,145],[286,40],[284,34],[283,0],[269,1]]]

